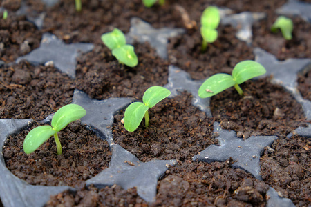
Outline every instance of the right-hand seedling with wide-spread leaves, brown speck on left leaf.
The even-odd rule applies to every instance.
[[[232,75],[218,73],[209,77],[200,86],[198,96],[201,98],[212,97],[232,86],[236,88],[239,95],[243,95],[243,90],[238,85],[253,77],[263,75],[265,72],[265,68],[260,63],[251,60],[241,61],[232,70]]]

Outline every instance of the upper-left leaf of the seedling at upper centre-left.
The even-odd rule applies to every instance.
[[[112,32],[102,34],[102,41],[110,50],[126,44],[125,36],[118,28],[114,28]]]

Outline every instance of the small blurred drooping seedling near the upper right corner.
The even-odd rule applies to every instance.
[[[292,19],[280,16],[271,27],[272,32],[276,32],[278,29],[281,30],[283,37],[286,40],[292,39],[292,30],[294,28],[294,24],[292,23]]]

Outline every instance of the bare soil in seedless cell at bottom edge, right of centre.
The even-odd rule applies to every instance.
[[[185,161],[171,168],[160,181],[154,206],[167,201],[168,206],[265,206],[269,186],[230,164]]]

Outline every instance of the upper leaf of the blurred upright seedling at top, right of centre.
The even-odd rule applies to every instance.
[[[216,6],[207,7],[201,16],[201,27],[207,27],[211,29],[218,28],[220,23],[220,13]]]

